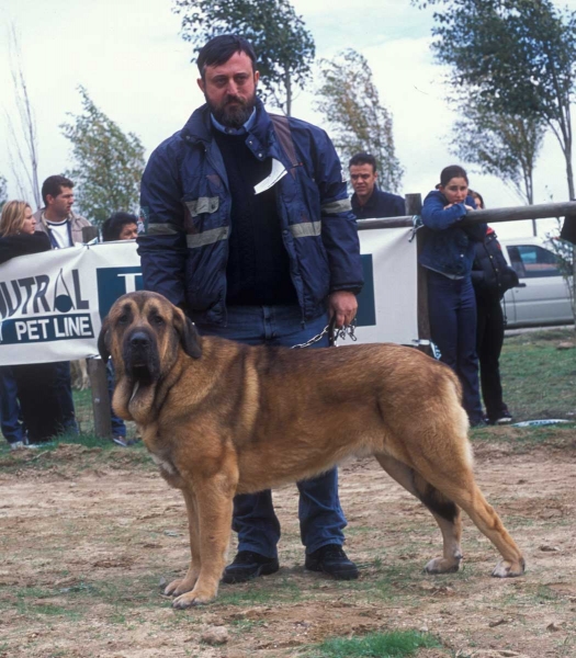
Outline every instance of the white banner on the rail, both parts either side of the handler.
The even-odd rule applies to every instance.
[[[410,344],[418,338],[416,242],[408,242],[410,229],[359,235],[365,275],[359,296],[359,342]],[[133,241],[8,261],[0,265],[0,364],[95,356],[102,318],[115,299],[142,286]]]

